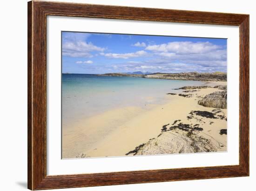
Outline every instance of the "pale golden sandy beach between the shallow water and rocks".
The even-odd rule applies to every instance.
[[[205,85],[213,87],[226,85],[226,82],[205,82]],[[215,151],[226,151],[227,135],[220,133],[222,129],[227,128],[226,109],[218,111],[221,112],[222,119],[199,115],[191,117],[191,114],[193,115],[191,111],[212,112],[216,109],[199,105],[198,100],[209,93],[222,90],[216,88],[195,90],[184,92],[184,94],[192,94],[192,97],[166,94],[168,101],[163,105],[146,105],[143,109],[116,108],[78,121],[72,128],[62,130],[62,158],[133,155],[134,153],[128,154],[128,152],[157,138],[163,132],[163,127],[168,128],[175,121],[200,125],[202,130],[197,134],[214,142],[214,145],[217,145]],[[171,93],[175,91],[179,90],[173,90]]]

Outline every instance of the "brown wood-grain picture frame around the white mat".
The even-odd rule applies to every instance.
[[[239,165],[47,176],[47,15],[239,26]],[[249,15],[139,7],[28,2],[28,188],[31,190],[249,176]],[[238,85],[234,85],[238,86]]]

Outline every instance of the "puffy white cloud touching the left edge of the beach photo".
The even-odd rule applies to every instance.
[[[66,42],[62,46],[62,55],[70,57],[88,57],[91,58],[93,55],[92,51],[103,52],[105,48],[95,46],[91,42],[87,43],[84,41],[77,42]]]

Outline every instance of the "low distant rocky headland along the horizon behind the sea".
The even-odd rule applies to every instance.
[[[127,73],[106,73],[99,76],[130,76],[153,79],[177,79],[194,81],[227,81],[227,73],[199,73],[199,72],[181,72],[181,73],[152,73],[152,74],[127,74]]]

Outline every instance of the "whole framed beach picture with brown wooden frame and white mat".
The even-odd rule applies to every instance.
[[[249,176],[249,15],[28,2],[28,188]]]

